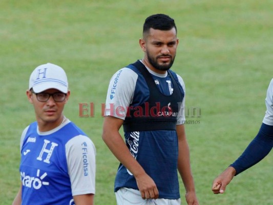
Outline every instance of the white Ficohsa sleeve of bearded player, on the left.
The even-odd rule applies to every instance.
[[[129,68],[117,71],[110,80],[104,116],[125,119],[132,103],[138,75]]]

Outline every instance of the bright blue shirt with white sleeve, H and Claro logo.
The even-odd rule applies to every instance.
[[[95,194],[95,146],[70,120],[48,132],[33,122],[20,151],[22,204],[72,205],[75,195]]]

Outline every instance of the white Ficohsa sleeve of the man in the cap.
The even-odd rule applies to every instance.
[[[78,135],[66,144],[72,195],[95,194],[96,149],[89,137]]]

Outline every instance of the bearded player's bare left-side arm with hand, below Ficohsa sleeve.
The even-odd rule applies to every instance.
[[[141,197],[143,199],[158,198],[158,190],[154,180],[145,173],[132,156],[119,134],[122,123],[123,119],[112,116],[104,117],[102,139],[120,163],[134,175]]]

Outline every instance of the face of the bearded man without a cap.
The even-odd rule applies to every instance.
[[[175,59],[178,38],[175,28],[162,31],[150,29],[149,34],[145,34],[140,46],[145,52],[144,60],[150,69],[161,73],[169,70]]]

